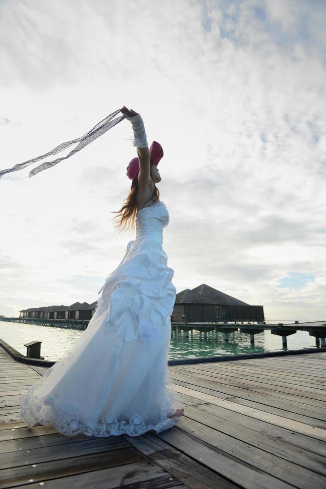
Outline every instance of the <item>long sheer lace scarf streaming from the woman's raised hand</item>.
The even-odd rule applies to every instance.
[[[102,136],[102,134],[104,134],[113,126],[121,122],[123,119],[125,119],[128,114],[124,114],[121,117],[117,117],[116,119],[114,119],[114,117],[117,114],[119,114],[120,111],[121,110],[118,109],[112,112],[112,114],[108,115],[105,119],[103,119],[101,122],[96,124],[96,126],[94,126],[93,129],[88,131],[86,134],[84,134],[84,136],[81,136],[80,138],[73,139],[72,141],[67,141],[66,143],[61,143],[59,144],[59,146],[56,146],[48,153],[45,153],[44,155],[41,156],[37,156],[36,158],[32,158],[31,160],[24,161],[23,163],[17,163],[17,165],[14,165],[12,168],[7,168],[6,170],[0,170],[0,178],[6,173],[11,173],[11,172],[16,172],[18,170],[21,170],[26,166],[31,165],[35,161],[39,161],[42,160],[43,158],[47,158],[48,156],[52,156],[57,153],[60,153],[60,151],[69,148],[69,146],[72,146],[75,143],[79,143],[73,150],[70,151],[70,153],[67,154],[67,156],[63,156],[62,158],[57,158],[56,160],[53,161],[46,161],[44,163],[41,163],[41,165],[38,165],[36,168],[34,168],[29,172],[29,177],[33,177],[37,173],[42,172],[43,170],[47,170],[47,168],[51,168],[55,166],[57,163],[59,163],[62,160],[66,160],[70,156],[77,153],[77,151],[80,151],[81,149],[85,148],[85,146],[87,146],[89,143],[97,139],[99,136]]]

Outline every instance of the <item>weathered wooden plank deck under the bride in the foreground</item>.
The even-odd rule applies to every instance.
[[[18,398],[46,370],[0,348],[0,488],[326,487],[326,352],[169,366],[184,416],[139,437],[28,430]]]

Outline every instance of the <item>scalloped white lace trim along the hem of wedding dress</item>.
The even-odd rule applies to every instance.
[[[65,355],[50,367],[36,384],[19,398],[19,417],[24,420],[28,428],[36,423],[45,426],[53,426],[62,435],[72,437],[80,433],[88,437],[108,437],[112,435],[127,434],[139,436],[147,431],[154,430],[157,433],[172,427],[180,418],[169,418],[168,413],[173,410],[173,395],[166,388],[166,379],[163,374],[158,378],[158,392],[160,399],[160,416],[158,423],[153,425],[146,422],[141,412],[131,418],[125,416],[115,417],[107,413],[101,419],[99,416],[87,417],[80,414],[78,406],[73,403],[64,407],[55,405],[54,398],[47,395],[39,398],[35,390],[54,370],[65,365],[70,360],[71,352]]]

